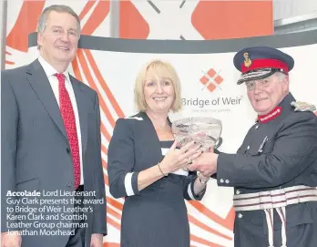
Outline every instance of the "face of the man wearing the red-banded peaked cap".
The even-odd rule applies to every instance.
[[[288,77],[279,73],[264,79],[247,81],[246,85],[252,108],[259,115],[271,112],[289,93]]]

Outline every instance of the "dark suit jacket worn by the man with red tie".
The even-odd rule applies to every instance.
[[[107,233],[106,226],[106,201],[105,184],[100,153],[100,112],[97,93],[87,87],[75,77],[70,77],[77,99],[79,112],[83,174],[86,191],[96,191],[96,199],[102,199],[103,204],[87,204],[91,207],[87,213],[88,227],[86,229],[89,246],[91,233]],[[47,206],[65,206],[72,209],[73,203],[69,200],[72,196],[63,196],[60,191],[74,191],[73,163],[69,152],[69,143],[66,138],[66,129],[56,102],[56,98],[49,85],[43,67],[36,59],[25,67],[5,70],[1,73],[1,231],[28,230],[39,231],[34,220],[27,216],[27,212],[13,212],[7,218],[6,207],[15,207],[11,200],[22,200],[18,196],[6,196],[10,191],[39,191],[38,203],[20,201],[19,206],[36,208],[34,215],[39,217],[39,222],[51,222],[49,231],[69,231],[68,226],[57,225],[63,221],[61,215],[58,220],[46,220],[49,215],[57,213],[38,212]],[[47,197],[45,191],[58,191],[55,196]],[[28,197],[33,199],[33,197]],[[91,197],[90,197],[91,198]],[[68,202],[48,204],[43,200],[63,200]],[[42,205],[40,205],[40,202]],[[22,203],[22,204],[21,204]],[[21,208],[21,207],[20,207]],[[61,213],[66,211],[61,209]],[[93,211],[93,212],[91,212]],[[18,215],[18,216],[17,216]],[[73,212],[64,212],[71,217]],[[21,219],[14,219],[20,217]],[[44,220],[43,220],[44,218]],[[30,222],[31,227],[16,227],[18,221]],[[63,222],[66,222],[65,220]],[[69,221],[70,222],[70,221]],[[46,227],[41,227],[44,230]],[[30,232],[28,232],[30,233]],[[42,232],[43,233],[43,232]],[[26,235],[22,237],[22,246],[65,246],[69,235]]]

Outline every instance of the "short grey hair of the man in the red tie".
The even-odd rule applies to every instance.
[[[43,34],[44,31],[46,30],[46,21],[48,18],[49,13],[51,13],[52,11],[55,11],[57,13],[67,13],[69,15],[73,15],[76,20],[77,20],[77,29],[78,29],[78,37],[80,37],[80,19],[79,16],[75,13],[75,11],[67,6],[67,5],[50,5],[48,7],[46,7],[42,14],[39,16],[38,22],[37,22],[37,35],[38,34]],[[39,46],[37,46],[37,48],[39,48]]]

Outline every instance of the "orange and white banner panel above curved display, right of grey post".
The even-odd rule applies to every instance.
[[[119,37],[210,40],[274,33],[272,0],[119,1]]]

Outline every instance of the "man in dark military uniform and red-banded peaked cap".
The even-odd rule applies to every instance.
[[[257,46],[234,65],[257,121],[237,154],[203,153],[189,169],[217,172],[220,186],[234,187],[235,247],[316,247],[317,118],[289,91],[294,60]]]

